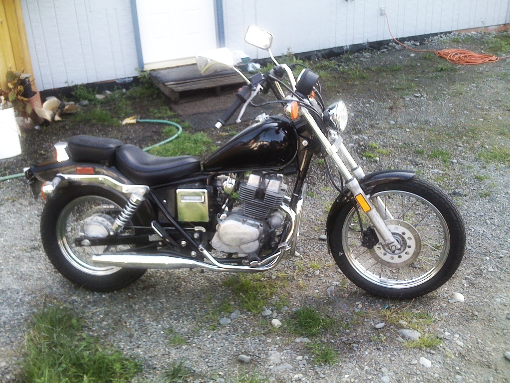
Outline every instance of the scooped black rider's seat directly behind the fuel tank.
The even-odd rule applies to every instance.
[[[117,148],[116,166],[135,183],[153,186],[200,171],[200,160],[193,156],[158,157],[134,145]]]

